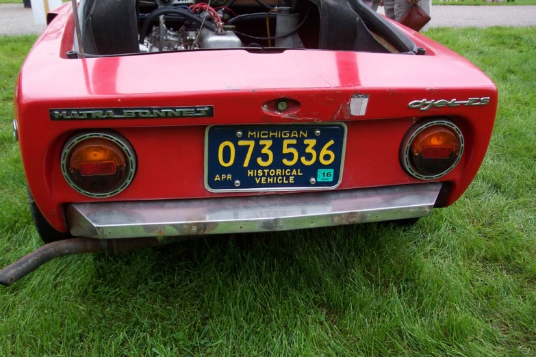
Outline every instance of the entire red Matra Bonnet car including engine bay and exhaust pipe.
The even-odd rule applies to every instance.
[[[66,254],[429,215],[492,135],[494,83],[361,0],[81,0],[47,18],[14,132],[54,243],[5,285]]]

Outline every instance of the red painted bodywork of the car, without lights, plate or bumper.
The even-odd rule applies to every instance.
[[[68,59],[73,49],[70,5],[31,49],[16,85],[18,142],[31,194],[55,230],[67,232],[66,206],[77,202],[186,200],[305,192],[212,192],[205,187],[205,130],[211,125],[344,122],[344,174],[335,190],[418,184],[400,165],[400,144],[424,118],[448,118],[463,132],[465,149],[457,166],[432,180],[444,190],[435,207],[457,200],[484,159],[496,115],[497,89],[460,55],[401,27],[426,55],[353,51],[287,50],[251,53],[222,50]],[[214,68],[218,61],[219,70]],[[275,62],[285,63],[277,70]],[[203,80],[199,80],[203,75]],[[368,96],[363,115],[353,115],[350,98]],[[289,98],[290,113],[264,103]],[[413,101],[489,98],[487,105],[409,107]],[[211,118],[51,120],[51,108],[172,107],[213,105]],[[80,129],[113,129],[136,150],[131,185],[110,198],[75,191],[62,176],[60,155]],[[428,181],[426,181],[428,182]],[[72,228],[72,227],[71,227]]]

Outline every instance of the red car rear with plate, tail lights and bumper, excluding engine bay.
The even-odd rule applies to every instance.
[[[455,202],[497,92],[465,59],[249,49],[70,59],[60,12],[16,90],[27,181],[59,232],[101,239],[396,220]]]

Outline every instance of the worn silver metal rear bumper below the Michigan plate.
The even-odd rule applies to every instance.
[[[270,196],[67,206],[75,237],[101,239],[272,232],[423,217],[441,183]]]

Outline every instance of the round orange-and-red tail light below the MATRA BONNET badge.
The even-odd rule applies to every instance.
[[[118,194],[136,172],[134,150],[116,133],[79,133],[62,150],[63,176],[73,189],[90,197]]]

